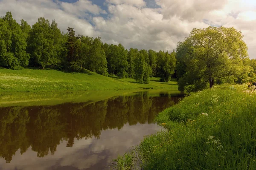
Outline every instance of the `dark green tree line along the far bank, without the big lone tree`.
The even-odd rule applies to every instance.
[[[175,51],[125,49],[122,44],[103,43],[100,37],[76,35],[74,28],[61,32],[55,20],[44,17],[32,27],[25,20],[18,24],[12,13],[0,18],[0,67],[25,66],[85,69],[104,76],[133,78],[148,83],[149,77],[168,82],[175,72]]]

